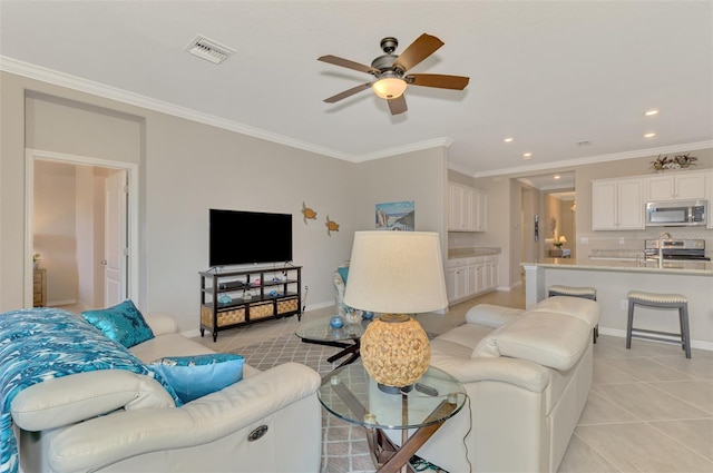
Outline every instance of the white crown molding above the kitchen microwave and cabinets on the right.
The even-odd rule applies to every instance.
[[[512,174],[520,174],[520,173],[524,174],[524,173],[531,173],[531,171],[548,171],[551,169],[567,168],[567,167],[574,167],[574,166],[592,165],[592,164],[606,162],[606,161],[618,161],[622,159],[633,159],[633,158],[641,158],[644,156],[666,155],[668,152],[691,151],[694,149],[705,149],[705,148],[713,148],[713,140],[687,142],[687,144],[672,145],[672,146],[662,146],[658,148],[635,149],[632,151],[614,152],[611,155],[588,156],[585,158],[567,159],[564,161],[543,162],[539,165],[519,166],[515,168],[496,169],[496,170],[475,173],[475,174],[463,173],[462,170],[458,170],[455,167],[450,167],[450,166],[449,166],[449,169],[458,170],[461,174],[466,174],[470,177],[478,178],[478,177],[512,175]]]

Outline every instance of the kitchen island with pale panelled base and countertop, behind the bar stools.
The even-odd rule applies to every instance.
[[[713,263],[607,260],[551,258],[522,263],[526,307],[547,297],[547,287],[589,286],[597,289],[602,315],[599,333],[626,336],[627,293],[677,293],[688,299],[691,346],[713,351]],[[641,312],[639,312],[641,311]],[[636,308],[638,325],[662,332],[678,332],[678,317],[671,311]]]

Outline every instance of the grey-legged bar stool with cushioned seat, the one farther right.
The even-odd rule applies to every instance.
[[[682,348],[686,353],[686,358],[691,357],[691,336],[688,334],[688,300],[681,294],[653,294],[642,290],[629,290],[628,295],[628,323],[626,325],[626,348],[632,347],[632,337],[655,339],[658,342],[681,343]],[[634,327],[634,307],[637,305],[653,308],[675,308],[678,311],[678,324],[681,333],[648,331]],[[634,333],[638,332],[638,333]],[[668,335],[680,337],[680,341],[664,338],[661,336],[641,335]]]

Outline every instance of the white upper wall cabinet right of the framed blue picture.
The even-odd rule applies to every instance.
[[[487,194],[480,189],[449,183],[449,231],[485,231]]]

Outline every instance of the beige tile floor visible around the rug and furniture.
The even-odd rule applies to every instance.
[[[427,332],[442,333],[460,325],[477,303],[524,307],[525,295],[521,288],[495,292],[417,319]],[[331,312],[311,311],[303,321]],[[208,336],[197,339],[216,351],[234,351],[293,334],[296,325],[296,317],[290,317],[221,332],[216,343]],[[589,401],[559,472],[713,471],[713,352],[693,349],[686,359],[675,345],[634,339],[627,351],[624,338],[602,335],[594,358]]]

